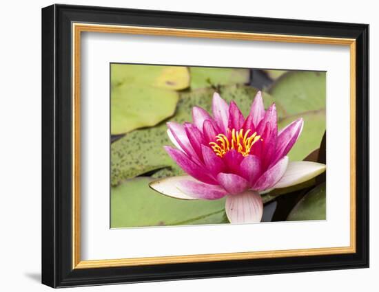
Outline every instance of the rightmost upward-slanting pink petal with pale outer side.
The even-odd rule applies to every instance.
[[[278,142],[276,144],[276,153],[274,155],[274,161],[277,161],[281,157],[287,155],[292,146],[294,146],[301,131],[303,131],[304,121],[303,118],[291,122],[288,126],[283,128],[278,135]]]

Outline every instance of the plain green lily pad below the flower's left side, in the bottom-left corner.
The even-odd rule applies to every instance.
[[[228,223],[225,199],[173,199],[150,189],[150,181],[137,177],[112,188],[112,228]]]

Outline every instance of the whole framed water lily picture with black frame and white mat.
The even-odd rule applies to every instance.
[[[369,25],[42,10],[42,282],[369,266]]]

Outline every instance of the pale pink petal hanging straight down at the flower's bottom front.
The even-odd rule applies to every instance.
[[[227,196],[225,211],[230,223],[258,223],[263,216],[263,201],[258,192],[248,190]]]

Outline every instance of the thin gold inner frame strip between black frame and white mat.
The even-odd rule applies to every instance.
[[[224,38],[245,41],[274,41],[278,43],[311,43],[322,45],[347,45],[350,49],[350,246],[313,249],[288,249],[275,251],[249,251],[225,254],[198,254],[187,256],[158,256],[148,258],[121,258],[113,260],[81,260],[80,223],[80,68],[81,32],[118,34],[144,34],[182,36],[194,38]],[[162,27],[136,27],[72,23],[72,269],[123,267],[137,265],[162,265],[183,262],[212,262],[258,258],[283,258],[287,256],[319,256],[351,254],[356,252],[356,40],[354,38],[329,38],[293,36],[283,34],[255,34],[212,30],[184,30]]]

